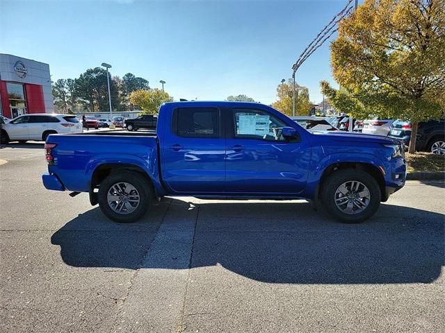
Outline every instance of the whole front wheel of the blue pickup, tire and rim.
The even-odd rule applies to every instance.
[[[369,173],[357,169],[332,173],[322,195],[327,212],[345,223],[363,222],[380,206],[378,182]]]

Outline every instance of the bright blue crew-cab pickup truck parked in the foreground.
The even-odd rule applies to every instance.
[[[369,219],[405,185],[396,139],[312,134],[259,103],[177,102],[156,133],[49,135],[47,189],[88,192],[109,219],[140,219],[163,196],[306,199],[335,219]]]

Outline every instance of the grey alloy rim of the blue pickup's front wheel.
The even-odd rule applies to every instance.
[[[341,212],[354,215],[366,210],[371,200],[371,193],[362,182],[348,180],[337,188],[334,200]]]

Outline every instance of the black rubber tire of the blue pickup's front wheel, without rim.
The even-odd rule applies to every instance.
[[[362,212],[348,214],[343,212],[335,203],[335,193],[339,187],[350,181],[361,182],[369,190],[369,202]],[[325,182],[322,189],[323,205],[334,219],[344,223],[360,223],[366,221],[377,212],[380,206],[381,193],[378,182],[369,173],[357,169],[335,171]],[[337,199],[338,200],[338,199]]]

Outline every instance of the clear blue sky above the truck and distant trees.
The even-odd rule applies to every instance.
[[[165,80],[175,99],[246,94],[271,103],[346,2],[0,0],[0,53],[49,63],[53,80],[108,62],[112,75],[131,72],[151,87]],[[334,83],[328,43],[297,74],[315,102],[320,80]]]

